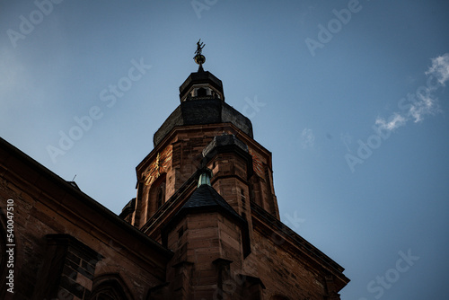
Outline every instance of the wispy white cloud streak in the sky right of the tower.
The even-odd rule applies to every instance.
[[[428,76],[427,86],[418,87],[416,93],[409,93],[407,98],[399,102],[401,111],[396,111],[387,119],[378,117],[375,119],[375,125],[385,130],[394,130],[404,126],[409,120],[417,123],[422,121],[425,116],[433,115],[441,111],[438,106],[438,98],[435,92],[438,84],[445,86],[449,81],[449,53],[436,58],[432,58],[432,66],[425,72]],[[432,77],[435,77],[438,84],[431,85]]]

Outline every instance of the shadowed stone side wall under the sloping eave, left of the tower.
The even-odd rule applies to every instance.
[[[78,191],[71,192],[68,183],[55,183],[48,172],[37,172],[14,155],[2,151],[0,147],[0,215],[5,214],[7,200],[12,199],[15,235],[14,294],[6,295],[5,299],[11,296],[34,299],[41,295],[44,287],[40,278],[48,276],[46,272],[57,271],[48,268],[48,263],[53,263],[47,255],[52,251],[48,248],[48,234],[67,234],[99,253],[99,256],[86,256],[79,247],[70,245],[66,252],[58,251],[60,273],[55,285],[68,292],[66,298],[61,299],[88,297],[95,278],[108,274],[120,274],[136,300],[145,299],[150,287],[165,280],[163,260],[152,259],[152,255],[162,257],[161,254],[157,251],[152,254],[145,243],[134,240],[134,236],[114,223],[124,221],[117,218],[111,222],[105,217],[111,214],[106,208],[98,208],[101,209],[99,213],[85,206],[84,200],[74,196]],[[129,227],[129,230],[135,229]],[[144,256],[141,251],[146,251]],[[95,264],[96,260],[99,261]],[[5,295],[2,294],[4,287],[0,287],[0,296]]]

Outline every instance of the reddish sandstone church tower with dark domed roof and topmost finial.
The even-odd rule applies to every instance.
[[[344,269],[280,221],[271,153],[203,69],[203,47],[120,215],[173,252],[150,299],[339,299]]]

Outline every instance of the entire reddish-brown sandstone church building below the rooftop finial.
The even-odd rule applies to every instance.
[[[344,269],[280,221],[271,153],[221,81],[200,69],[180,100],[119,216],[0,139],[1,299],[339,299]]]

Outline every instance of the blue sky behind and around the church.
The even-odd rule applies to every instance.
[[[113,212],[201,38],[342,299],[446,297],[449,3],[4,0],[0,28],[0,136]]]

